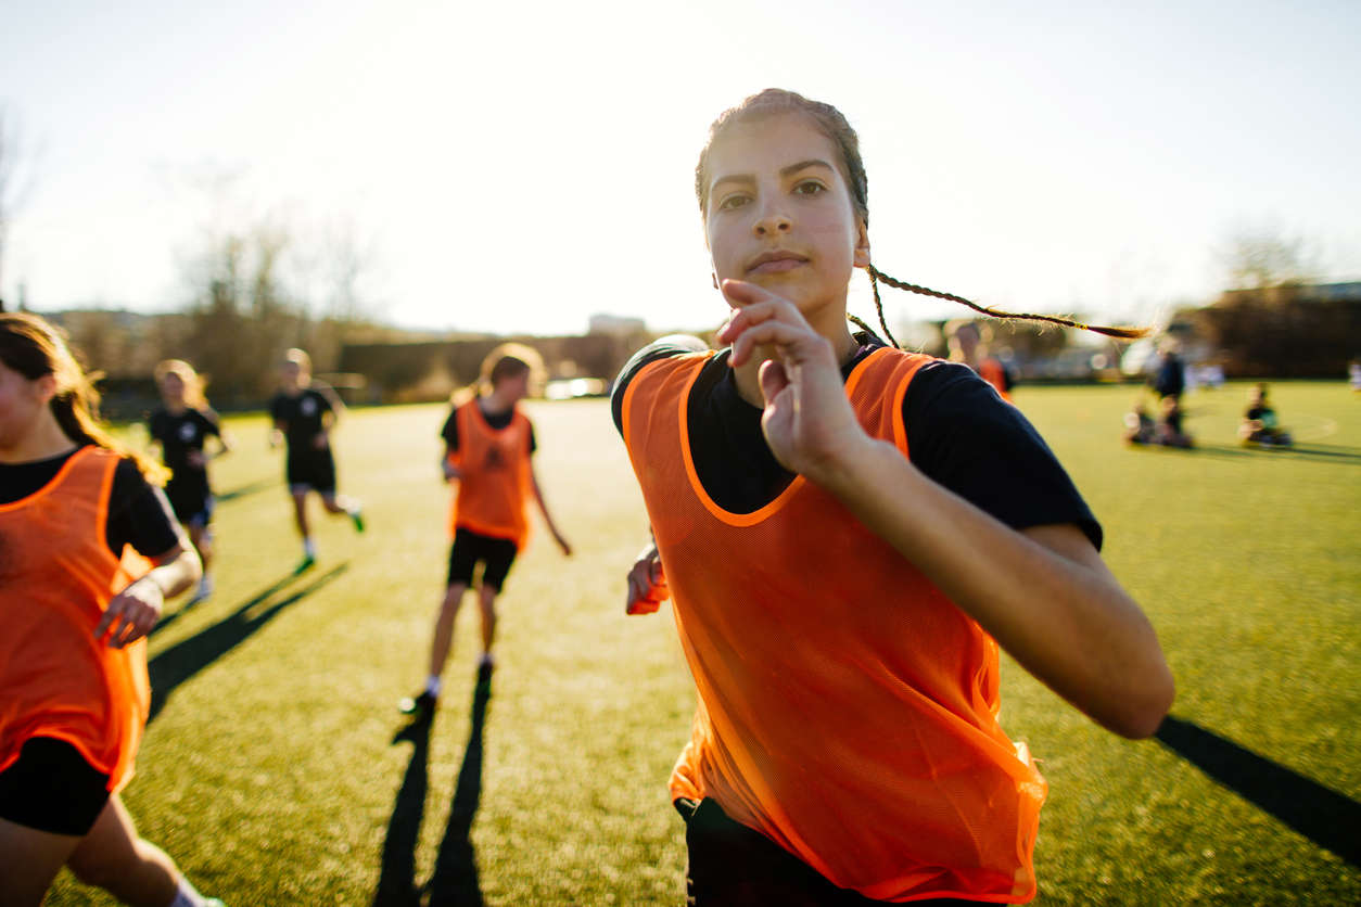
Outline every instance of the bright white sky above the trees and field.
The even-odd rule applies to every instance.
[[[182,306],[208,224],[269,220],[299,249],[350,235],[404,326],[713,326],[693,169],[768,86],[859,131],[875,262],[906,280],[1150,320],[1213,298],[1243,231],[1361,279],[1356,0],[0,0],[0,20],[30,174],[0,294],[38,311]],[[962,313],[886,301],[890,324]],[[860,280],[851,305],[871,315]]]

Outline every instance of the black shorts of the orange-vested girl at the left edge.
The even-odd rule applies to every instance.
[[[0,819],[53,835],[84,836],[109,802],[109,775],[54,737],[30,737],[0,771]]]

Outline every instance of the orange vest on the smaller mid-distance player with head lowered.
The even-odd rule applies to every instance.
[[[529,538],[529,419],[519,409],[505,428],[493,428],[476,400],[455,412],[459,449],[450,456],[463,477],[453,499],[450,532],[459,526],[509,538],[523,549]]]

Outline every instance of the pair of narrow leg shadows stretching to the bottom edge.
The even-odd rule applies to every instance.
[[[449,819],[434,861],[434,872],[425,885],[429,907],[475,904],[482,907],[482,888],[478,883],[476,854],[472,850],[472,819],[482,800],[482,733],[487,721],[490,687],[479,684],[472,695],[472,729],[468,748],[463,753],[463,768],[453,789]],[[422,888],[416,887],[416,843],[425,817],[426,791],[430,787],[427,764],[430,759],[431,721],[415,721],[397,732],[392,742],[411,741],[411,761],[401,779],[392,820],[382,840],[382,868],[373,907],[418,907]]]

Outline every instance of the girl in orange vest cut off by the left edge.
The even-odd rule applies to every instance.
[[[129,904],[204,900],[118,791],[147,719],[146,634],[199,578],[161,469],[124,454],[41,318],[0,314],[0,903],[65,865]]]

